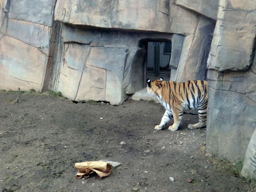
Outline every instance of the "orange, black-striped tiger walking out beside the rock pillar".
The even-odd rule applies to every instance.
[[[155,126],[155,130],[164,129],[165,125],[173,118],[173,125],[169,131],[176,131],[182,119],[184,110],[198,109],[199,122],[189,124],[189,129],[206,126],[207,121],[207,81],[192,80],[185,83],[147,79],[147,91],[151,96],[156,96],[166,109],[161,123]]]

